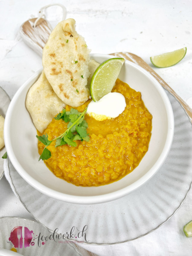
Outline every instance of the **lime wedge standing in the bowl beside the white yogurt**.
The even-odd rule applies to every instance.
[[[111,92],[124,61],[123,58],[112,58],[101,63],[95,70],[90,83],[93,101],[98,101]]]

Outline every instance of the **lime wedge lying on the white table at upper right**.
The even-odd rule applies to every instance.
[[[150,57],[151,62],[157,68],[167,68],[177,64],[182,60],[187,52],[187,48],[176,50],[174,52],[167,52],[161,55]]]

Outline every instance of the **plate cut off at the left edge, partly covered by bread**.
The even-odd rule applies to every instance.
[[[11,100],[10,100],[9,96],[0,87],[0,115],[2,115],[3,117],[5,117],[5,115],[7,113],[7,109],[9,107],[10,102],[11,102]],[[4,155],[5,152],[6,152],[5,147],[0,149],[0,180],[4,174],[4,169],[3,169],[4,160],[2,159],[2,156]]]

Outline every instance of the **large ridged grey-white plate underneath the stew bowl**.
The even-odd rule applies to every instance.
[[[48,197],[21,178],[9,161],[12,183],[34,218],[62,233],[71,226],[88,226],[89,244],[122,243],[161,226],[180,207],[192,181],[192,125],[180,103],[166,92],[173,108],[175,132],[160,170],[142,187],[103,204],[68,204]]]

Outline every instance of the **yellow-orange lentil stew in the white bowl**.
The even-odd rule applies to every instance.
[[[45,129],[43,134],[54,141],[47,146],[51,157],[44,162],[57,177],[76,186],[100,186],[120,180],[139,165],[148,150],[152,115],[145,107],[141,93],[128,84],[117,79],[112,92],[124,95],[126,107],[123,113],[104,121],[96,121],[85,113],[90,138],[75,140],[75,147],[69,144],[55,147],[54,139],[68,129],[64,118],[53,118]],[[90,101],[76,109],[83,112]],[[71,107],[66,106],[66,111],[70,110]],[[38,141],[38,148],[41,155],[45,145]]]

